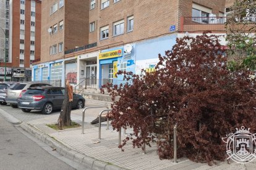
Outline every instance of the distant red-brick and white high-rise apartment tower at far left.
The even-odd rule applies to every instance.
[[[41,1],[4,0],[0,10],[0,81],[5,62],[6,81],[30,81],[32,62],[40,59]]]

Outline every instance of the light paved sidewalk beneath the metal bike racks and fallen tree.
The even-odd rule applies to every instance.
[[[94,100],[87,100],[86,107],[95,105],[98,105],[98,103]],[[113,131],[111,126],[109,126],[109,130],[106,130],[106,122],[101,123],[101,140],[99,140],[98,124],[95,126],[90,124],[90,121],[95,119],[100,111],[104,109],[93,108],[85,112],[85,134],[82,134],[81,127],[56,131],[46,126],[46,124],[57,123],[59,117],[57,113],[46,116],[40,115],[37,116],[37,119],[35,119],[36,116],[33,116],[33,119],[23,118],[27,121],[22,121],[40,131],[38,134],[32,132],[38,138],[43,139],[40,136],[44,136],[44,140],[46,140],[47,136],[50,136],[51,140],[55,139],[66,146],[69,151],[69,153],[65,153],[67,156],[72,152],[74,152],[74,155],[80,153],[80,156],[84,156],[82,162],[91,164],[92,169],[256,169],[255,162],[245,164],[245,167],[237,163],[228,164],[226,161],[219,162],[215,166],[208,166],[208,164],[194,163],[186,158],[178,159],[178,163],[173,163],[173,160],[160,160],[155,144],[152,144],[152,147],[146,147],[146,154],[143,154],[141,148],[132,148],[131,142],[127,142],[124,152],[121,152],[121,149],[118,148],[118,132]],[[15,114],[12,114],[12,116],[15,117],[16,114],[19,114],[17,112],[15,110]],[[31,114],[33,115],[33,113]],[[82,124],[82,110],[72,110],[71,119]],[[131,130],[127,129],[126,133],[129,134],[129,132]],[[122,139],[127,134],[122,132]],[[72,158],[74,159],[75,156]],[[100,166],[93,166],[94,163],[98,163]],[[106,166],[106,164],[109,166]]]

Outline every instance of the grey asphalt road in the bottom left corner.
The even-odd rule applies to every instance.
[[[53,156],[54,155],[54,156]],[[0,169],[82,169],[64,163],[51,147],[13,126],[0,115]],[[72,164],[72,163],[71,163]],[[76,164],[72,165],[73,167]]]

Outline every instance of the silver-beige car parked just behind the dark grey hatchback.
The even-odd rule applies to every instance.
[[[6,95],[6,103],[9,103],[11,107],[18,107],[18,98],[22,96],[22,94],[27,91],[30,87],[40,87],[40,86],[51,86],[51,84],[47,83],[38,83],[35,81],[29,83],[16,83],[14,86],[7,89]]]

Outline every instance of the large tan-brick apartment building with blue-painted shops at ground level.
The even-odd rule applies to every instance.
[[[61,79],[63,84],[67,78],[75,86],[90,79],[88,85],[100,87],[106,81],[121,81],[117,70],[153,71],[158,54],[171,49],[177,37],[204,30],[224,34],[229,4],[230,0],[43,1],[41,61],[33,65],[33,80]]]

